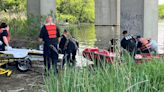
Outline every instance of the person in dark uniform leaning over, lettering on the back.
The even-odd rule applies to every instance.
[[[130,55],[134,56],[136,50],[136,40],[133,36],[128,35],[128,32],[123,31],[123,39],[121,40],[121,47],[127,50]]]

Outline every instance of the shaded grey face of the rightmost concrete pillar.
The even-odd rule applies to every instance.
[[[144,0],[121,0],[121,33],[143,36]]]

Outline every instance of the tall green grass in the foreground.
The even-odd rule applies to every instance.
[[[164,59],[135,64],[130,57],[123,63],[105,63],[94,70],[67,67],[56,77],[45,78],[46,92],[163,92]]]

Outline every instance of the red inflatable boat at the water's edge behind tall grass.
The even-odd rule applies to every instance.
[[[100,50],[98,48],[85,48],[83,50],[84,58],[87,58],[91,61],[105,61],[105,62],[113,62],[116,54],[114,52],[110,52],[107,50]],[[137,64],[143,63],[143,61],[150,61],[151,59],[156,58],[164,58],[164,54],[136,54],[135,61]]]

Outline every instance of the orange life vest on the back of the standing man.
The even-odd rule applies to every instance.
[[[49,24],[49,25],[45,25],[46,27],[46,30],[48,32],[48,36],[49,38],[56,38],[56,34],[57,34],[57,31],[56,31],[56,25],[55,24]]]

